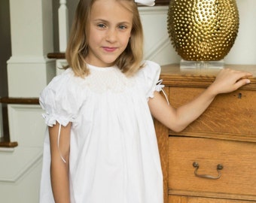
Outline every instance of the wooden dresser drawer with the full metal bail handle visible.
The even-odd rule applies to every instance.
[[[170,191],[242,195],[256,200],[256,143],[171,136],[168,159]],[[197,177],[194,162],[200,166],[197,174],[212,177],[218,177],[217,165],[223,165],[221,177]]]

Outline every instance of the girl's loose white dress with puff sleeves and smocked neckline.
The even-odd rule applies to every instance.
[[[88,65],[90,75],[71,68],[41,92],[47,126],[72,122],[70,193],[72,203],[162,203],[163,177],[148,98],[154,96],[160,66],[126,77],[117,67]],[[61,137],[60,137],[61,139]],[[61,156],[61,154],[60,154]],[[40,202],[54,202],[46,131]]]

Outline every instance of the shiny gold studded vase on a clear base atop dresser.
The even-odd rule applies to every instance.
[[[236,0],[170,0],[167,29],[182,59],[224,59],[239,29]]]

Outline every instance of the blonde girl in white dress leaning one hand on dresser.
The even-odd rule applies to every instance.
[[[215,95],[250,82],[251,74],[224,69],[194,101],[175,109],[156,91],[160,66],[142,62],[142,47],[136,2],[79,2],[66,50],[70,68],[40,96],[48,126],[42,203],[163,202],[151,115],[179,132]]]

